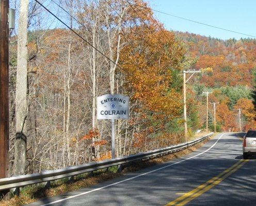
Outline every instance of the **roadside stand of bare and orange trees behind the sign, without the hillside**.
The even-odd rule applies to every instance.
[[[116,123],[117,156],[181,142],[177,134],[182,129],[172,128],[182,124],[181,85],[176,85],[185,49],[173,32],[165,30],[152,11],[127,1],[66,1],[60,6],[68,13],[57,4],[51,6],[83,39],[66,28],[35,24],[35,30],[28,30],[24,172],[110,158],[109,122],[97,121],[95,114],[97,96],[106,93],[131,97],[131,118]],[[31,18],[43,15],[37,12]],[[15,42],[17,36],[12,38]],[[14,156],[18,110],[13,104],[13,97],[18,98],[13,90],[16,49],[13,43],[10,159],[14,161],[18,160]]]

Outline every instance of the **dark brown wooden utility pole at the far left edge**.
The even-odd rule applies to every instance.
[[[9,139],[9,0],[0,1],[0,178],[8,176]]]

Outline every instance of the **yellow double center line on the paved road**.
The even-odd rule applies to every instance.
[[[194,190],[184,194],[183,196],[181,196],[181,197],[179,197],[179,198],[169,202],[165,206],[170,206],[170,205],[179,205],[179,206],[181,206],[181,205],[185,205],[189,201],[199,197],[203,193],[209,191],[215,185],[219,184],[222,180],[224,180],[225,178],[230,176],[232,173],[234,173],[237,169],[242,167],[246,162],[248,162],[248,160],[240,160],[240,161],[238,161],[233,166],[229,167],[228,169],[226,169],[225,171],[220,173],[218,176],[216,176],[216,177],[210,179],[209,181],[201,184],[200,186],[198,186]]]

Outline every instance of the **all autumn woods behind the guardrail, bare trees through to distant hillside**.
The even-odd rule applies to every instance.
[[[233,55],[233,41],[168,31],[141,0],[69,0],[50,5],[80,37],[62,26],[49,29],[40,22],[29,28],[26,173],[110,158],[110,122],[96,116],[96,98],[106,93],[130,96],[130,119],[115,125],[116,156],[183,142],[182,71],[188,68],[206,68],[188,87],[191,135],[205,128],[201,94],[209,87],[213,87],[210,102],[220,102],[217,122],[222,131],[236,128],[236,107],[243,107],[248,127],[254,124],[245,82],[251,78],[246,71],[251,71],[254,57],[251,50],[246,53],[246,45],[253,50],[254,43],[236,43]],[[46,21],[44,12],[30,18]],[[11,165],[16,159],[18,111],[16,38],[12,37],[10,57]],[[243,86],[236,85],[238,78]]]

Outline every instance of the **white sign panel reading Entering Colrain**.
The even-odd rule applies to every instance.
[[[105,94],[97,97],[97,118],[129,118],[129,96]]]

